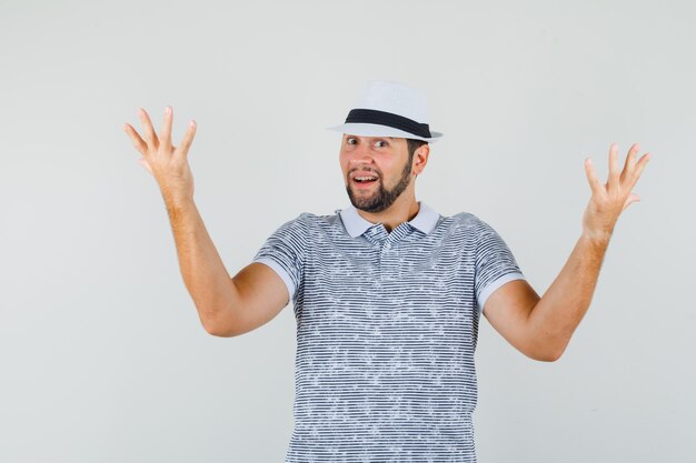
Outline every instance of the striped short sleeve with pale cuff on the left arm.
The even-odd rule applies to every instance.
[[[270,266],[285,282],[290,301],[302,283],[307,227],[304,215],[280,225],[261,245],[253,262]]]

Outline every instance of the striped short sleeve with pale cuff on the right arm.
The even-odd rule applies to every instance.
[[[506,242],[488,223],[479,219],[476,245],[475,291],[478,314],[495,290],[513,280],[526,280]]]

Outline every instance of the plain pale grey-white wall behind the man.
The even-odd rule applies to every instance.
[[[649,151],[591,306],[535,362],[485,319],[480,462],[693,462],[696,9],[689,2],[0,4],[0,461],[280,462],[291,305],[206,333],[122,131],[190,119],[196,202],[230,274],[300,212],[349,204],[338,149],[369,79],[429,98],[417,199],[506,240],[543,294],[608,148]]]

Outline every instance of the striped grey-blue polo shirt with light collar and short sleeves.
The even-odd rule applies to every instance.
[[[286,462],[476,462],[478,321],[525,276],[486,222],[419,204],[391,232],[354,207],[301,213],[256,254],[297,320]]]

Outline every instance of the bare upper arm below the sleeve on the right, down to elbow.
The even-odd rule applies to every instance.
[[[529,334],[529,314],[539,300],[539,295],[526,280],[513,280],[488,296],[484,315],[518,351],[535,360],[549,360],[543,346],[537,345]]]

